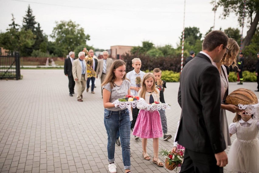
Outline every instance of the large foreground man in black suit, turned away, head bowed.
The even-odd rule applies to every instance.
[[[208,33],[202,51],[185,65],[181,73],[178,103],[182,108],[175,141],[185,147],[180,172],[223,173],[228,163],[220,119],[221,82],[219,62],[228,49],[222,31]]]

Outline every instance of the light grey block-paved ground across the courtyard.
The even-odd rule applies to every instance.
[[[75,95],[69,96],[63,70],[21,70],[21,74],[22,80],[0,81],[0,172],[108,172],[100,80],[95,82],[95,94],[84,92],[84,102],[78,102]],[[165,101],[171,104],[166,111],[168,133],[173,136],[181,113],[178,87],[179,83],[167,83],[165,90]],[[241,87],[253,91],[257,84],[245,82]],[[237,88],[240,85],[230,83],[230,92]],[[234,114],[227,114],[231,123]],[[144,160],[141,140],[133,137],[133,173],[175,172]],[[233,135],[231,140],[235,138]],[[171,149],[173,139],[160,138],[159,144]],[[150,139],[147,152],[153,156],[152,151]],[[117,172],[124,172],[121,147],[117,146],[115,163]]]

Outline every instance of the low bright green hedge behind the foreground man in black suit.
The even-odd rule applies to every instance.
[[[147,72],[152,72],[149,70],[144,71],[145,73]],[[250,71],[243,71],[243,78],[244,82],[256,82],[256,75],[255,72],[250,72]],[[166,82],[179,82],[180,80],[180,73],[174,72],[174,71],[169,71],[169,70],[164,70],[162,71],[162,80]],[[237,81],[237,73],[236,72],[230,72],[229,82],[236,82]]]

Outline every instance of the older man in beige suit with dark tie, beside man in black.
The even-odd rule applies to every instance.
[[[76,84],[77,101],[83,102],[83,92],[85,91],[87,79],[85,52],[79,52],[78,59],[74,60],[72,73]]]

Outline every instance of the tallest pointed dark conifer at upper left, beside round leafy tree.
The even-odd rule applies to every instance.
[[[22,28],[25,30],[30,29],[33,32],[33,34],[35,34],[36,33],[36,27],[35,27],[36,24],[37,24],[37,22],[35,21],[35,16],[33,16],[32,9],[30,8],[30,5],[29,5],[25,17],[23,17]]]

